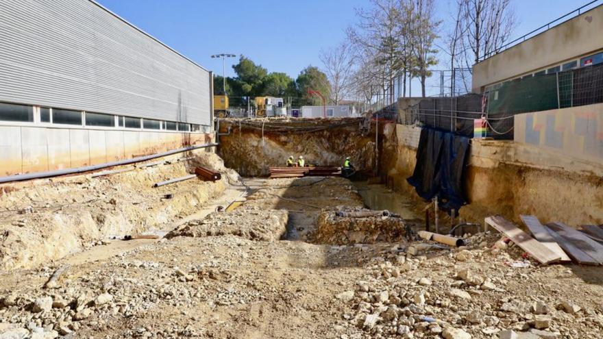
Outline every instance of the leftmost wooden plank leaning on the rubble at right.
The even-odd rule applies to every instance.
[[[541,264],[550,264],[561,260],[560,255],[545,247],[526,232],[521,231],[519,227],[502,216],[489,216],[485,219],[485,222],[505,234],[511,241],[532,255]]]

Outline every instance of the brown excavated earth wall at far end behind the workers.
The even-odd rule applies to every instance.
[[[226,135],[219,137],[219,154],[227,167],[249,177],[268,175],[270,166],[286,166],[290,155],[325,166],[341,166],[349,156],[356,168],[371,173],[375,126],[364,123],[362,118],[226,119],[220,122]]]

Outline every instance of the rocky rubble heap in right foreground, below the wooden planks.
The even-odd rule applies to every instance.
[[[408,251],[373,258],[365,277],[334,295],[349,307],[336,324],[341,338],[599,337],[603,310],[584,309],[544,288],[521,288],[533,279],[530,271],[563,275],[566,268],[518,268],[503,242],[492,238],[478,234],[467,239],[469,247],[439,249],[429,259]]]

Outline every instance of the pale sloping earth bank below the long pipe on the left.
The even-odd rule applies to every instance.
[[[206,201],[223,192],[225,179],[152,187],[188,175],[195,164],[225,170],[214,153],[198,150],[186,156],[192,158],[103,177],[77,175],[1,185],[0,270],[45,264],[112,236],[169,229],[180,217],[204,208]],[[223,178],[236,179],[232,174],[224,171]],[[166,194],[173,197],[164,199]]]

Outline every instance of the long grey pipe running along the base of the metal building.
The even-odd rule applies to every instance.
[[[98,164],[98,165],[93,165],[93,166],[84,166],[84,167],[77,167],[77,168],[67,168],[67,169],[58,170],[58,171],[47,171],[47,172],[37,172],[37,173],[27,173],[27,174],[20,174],[20,175],[11,175],[9,177],[0,177],[0,184],[3,184],[5,182],[10,182],[10,181],[23,181],[23,180],[40,179],[40,178],[47,178],[47,177],[58,177],[60,175],[68,175],[68,174],[75,174],[75,173],[83,173],[83,172],[89,172],[89,171],[96,171],[96,170],[99,170],[101,168],[107,168],[107,167],[112,167],[112,166],[121,166],[121,165],[127,165],[127,164],[134,164],[134,162],[147,161],[147,160],[151,160],[151,159],[167,157],[168,155],[172,155],[172,154],[176,154],[176,153],[182,153],[182,152],[186,152],[186,151],[193,151],[194,149],[204,149],[204,148],[207,148],[207,147],[214,147],[214,146],[218,146],[218,144],[216,144],[216,143],[210,143],[210,144],[204,144],[204,145],[189,146],[189,147],[184,147],[182,149],[174,149],[173,151],[167,151],[167,152],[163,152],[163,153],[156,153],[156,154],[152,154],[152,155],[145,155],[143,157],[126,159],[126,160],[120,160],[120,161],[116,161],[116,162],[106,162],[104,164]]]

